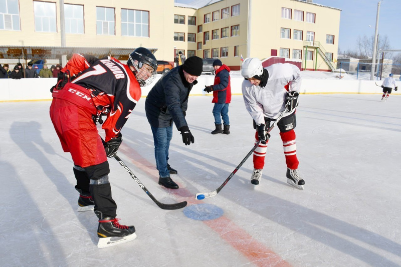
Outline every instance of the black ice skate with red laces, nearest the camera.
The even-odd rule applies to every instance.
[[[96,216],[99,218],[97,227],[97,236],[99,242],[97,247],[108,247],[131,241],[136,238],[135,227],[126,226],[118,223],[117,218],[103,216],[102,212],[96,210]]]

